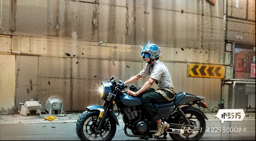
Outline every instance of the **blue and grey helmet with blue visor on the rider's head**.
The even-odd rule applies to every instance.
[[[142,48],[142,46],[140,46]],[[142,52],[141,52],[141,57],[144,58],[148,58],[150,57],[151,59],[155,59],[160,57],[161,50],[159,48],[159,46],[157,46],[156,44],[146,44],[143,48],[142,48]]]

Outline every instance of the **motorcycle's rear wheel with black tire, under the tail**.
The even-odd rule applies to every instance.
[[[173,140],[199,140],[205,133],[206,123],[205,118],[200,114],[199,109],[194,107],[189,107],[183,110],[187,116],[190,125],[194,126],[194,129],[186,128],[184,134],[169,134]],[[176,124],[186,124],[185,119],[179,114],[175,117]],[[190,132],[191,131],[191,132]]]

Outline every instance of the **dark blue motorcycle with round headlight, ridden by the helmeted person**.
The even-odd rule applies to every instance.
[[[129,88],[137,91],[134,85],[126,86],[121,80],[116,82],[111,77],[108,82],[102,82],[99,93],[104,101],[103,106],[91,105],[83,112],[76,122],[76,132],[80,140],[112,140],[115,136],[119,122],[117,116],[122,114],[124,123],[123,132],[126,136],[137,138],[154,138],[157,132],[157,123],[142,106],[141,95],[137,97],[127,95],[125,90]],[[145,93],[145,92],[144,92]],[[162,121],[169,123],[170,128],[163,137],[155,139],[167,139],[167,134],[173,140],[199,140],[206,130],[206,115],[200,110],[208,108],[202,103],[205,97],[194,96],[188,92],[175,93],[174,100],[167,103],[154,104]],[[192,105],[197,104],[199,109]],[[113,113],[117,106],[118,115]],[[180,106],[187,105],[182,108]],[[195,117],[193,117],[195,116]],[[197,121],[193,121],[193,119]],[[127,132],[127,128],[132,134]],[[192,136],[191,136],[192,135]]]

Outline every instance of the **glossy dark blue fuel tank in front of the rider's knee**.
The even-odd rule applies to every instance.
[[[120,100],[123,104],[126,106],[137,106],[137,105],[142,105],[141,98],[136,97],[136,96],[129,96],[126,93],[123,93],[120,96]]]

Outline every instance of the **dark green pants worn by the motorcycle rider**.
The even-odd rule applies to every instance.
[[[163,91],[169,98],[174,97],[174,94],[170,93],[169,91]],[[142,100],[142,105],[145,107],[147,112],[149,112],[149,114],[152,117],[152,120],[156,121],[160,119],[160,114],[157,112],[157,109],[155,108],[154,104],[167,103],[168,100],[158,92],[155,92],[153,88],[149,88],[146,91],[144,91],[140,97]]]

